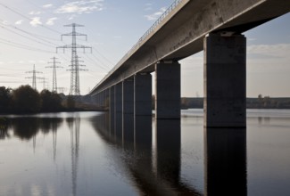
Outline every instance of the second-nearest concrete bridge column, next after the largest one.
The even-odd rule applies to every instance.
[[[155,117],[180,118],[180,64],[178,61],[155,65]]]

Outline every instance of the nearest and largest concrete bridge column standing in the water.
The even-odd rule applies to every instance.
[[[204,127],[245,127],[243,35],[204,38]]]

